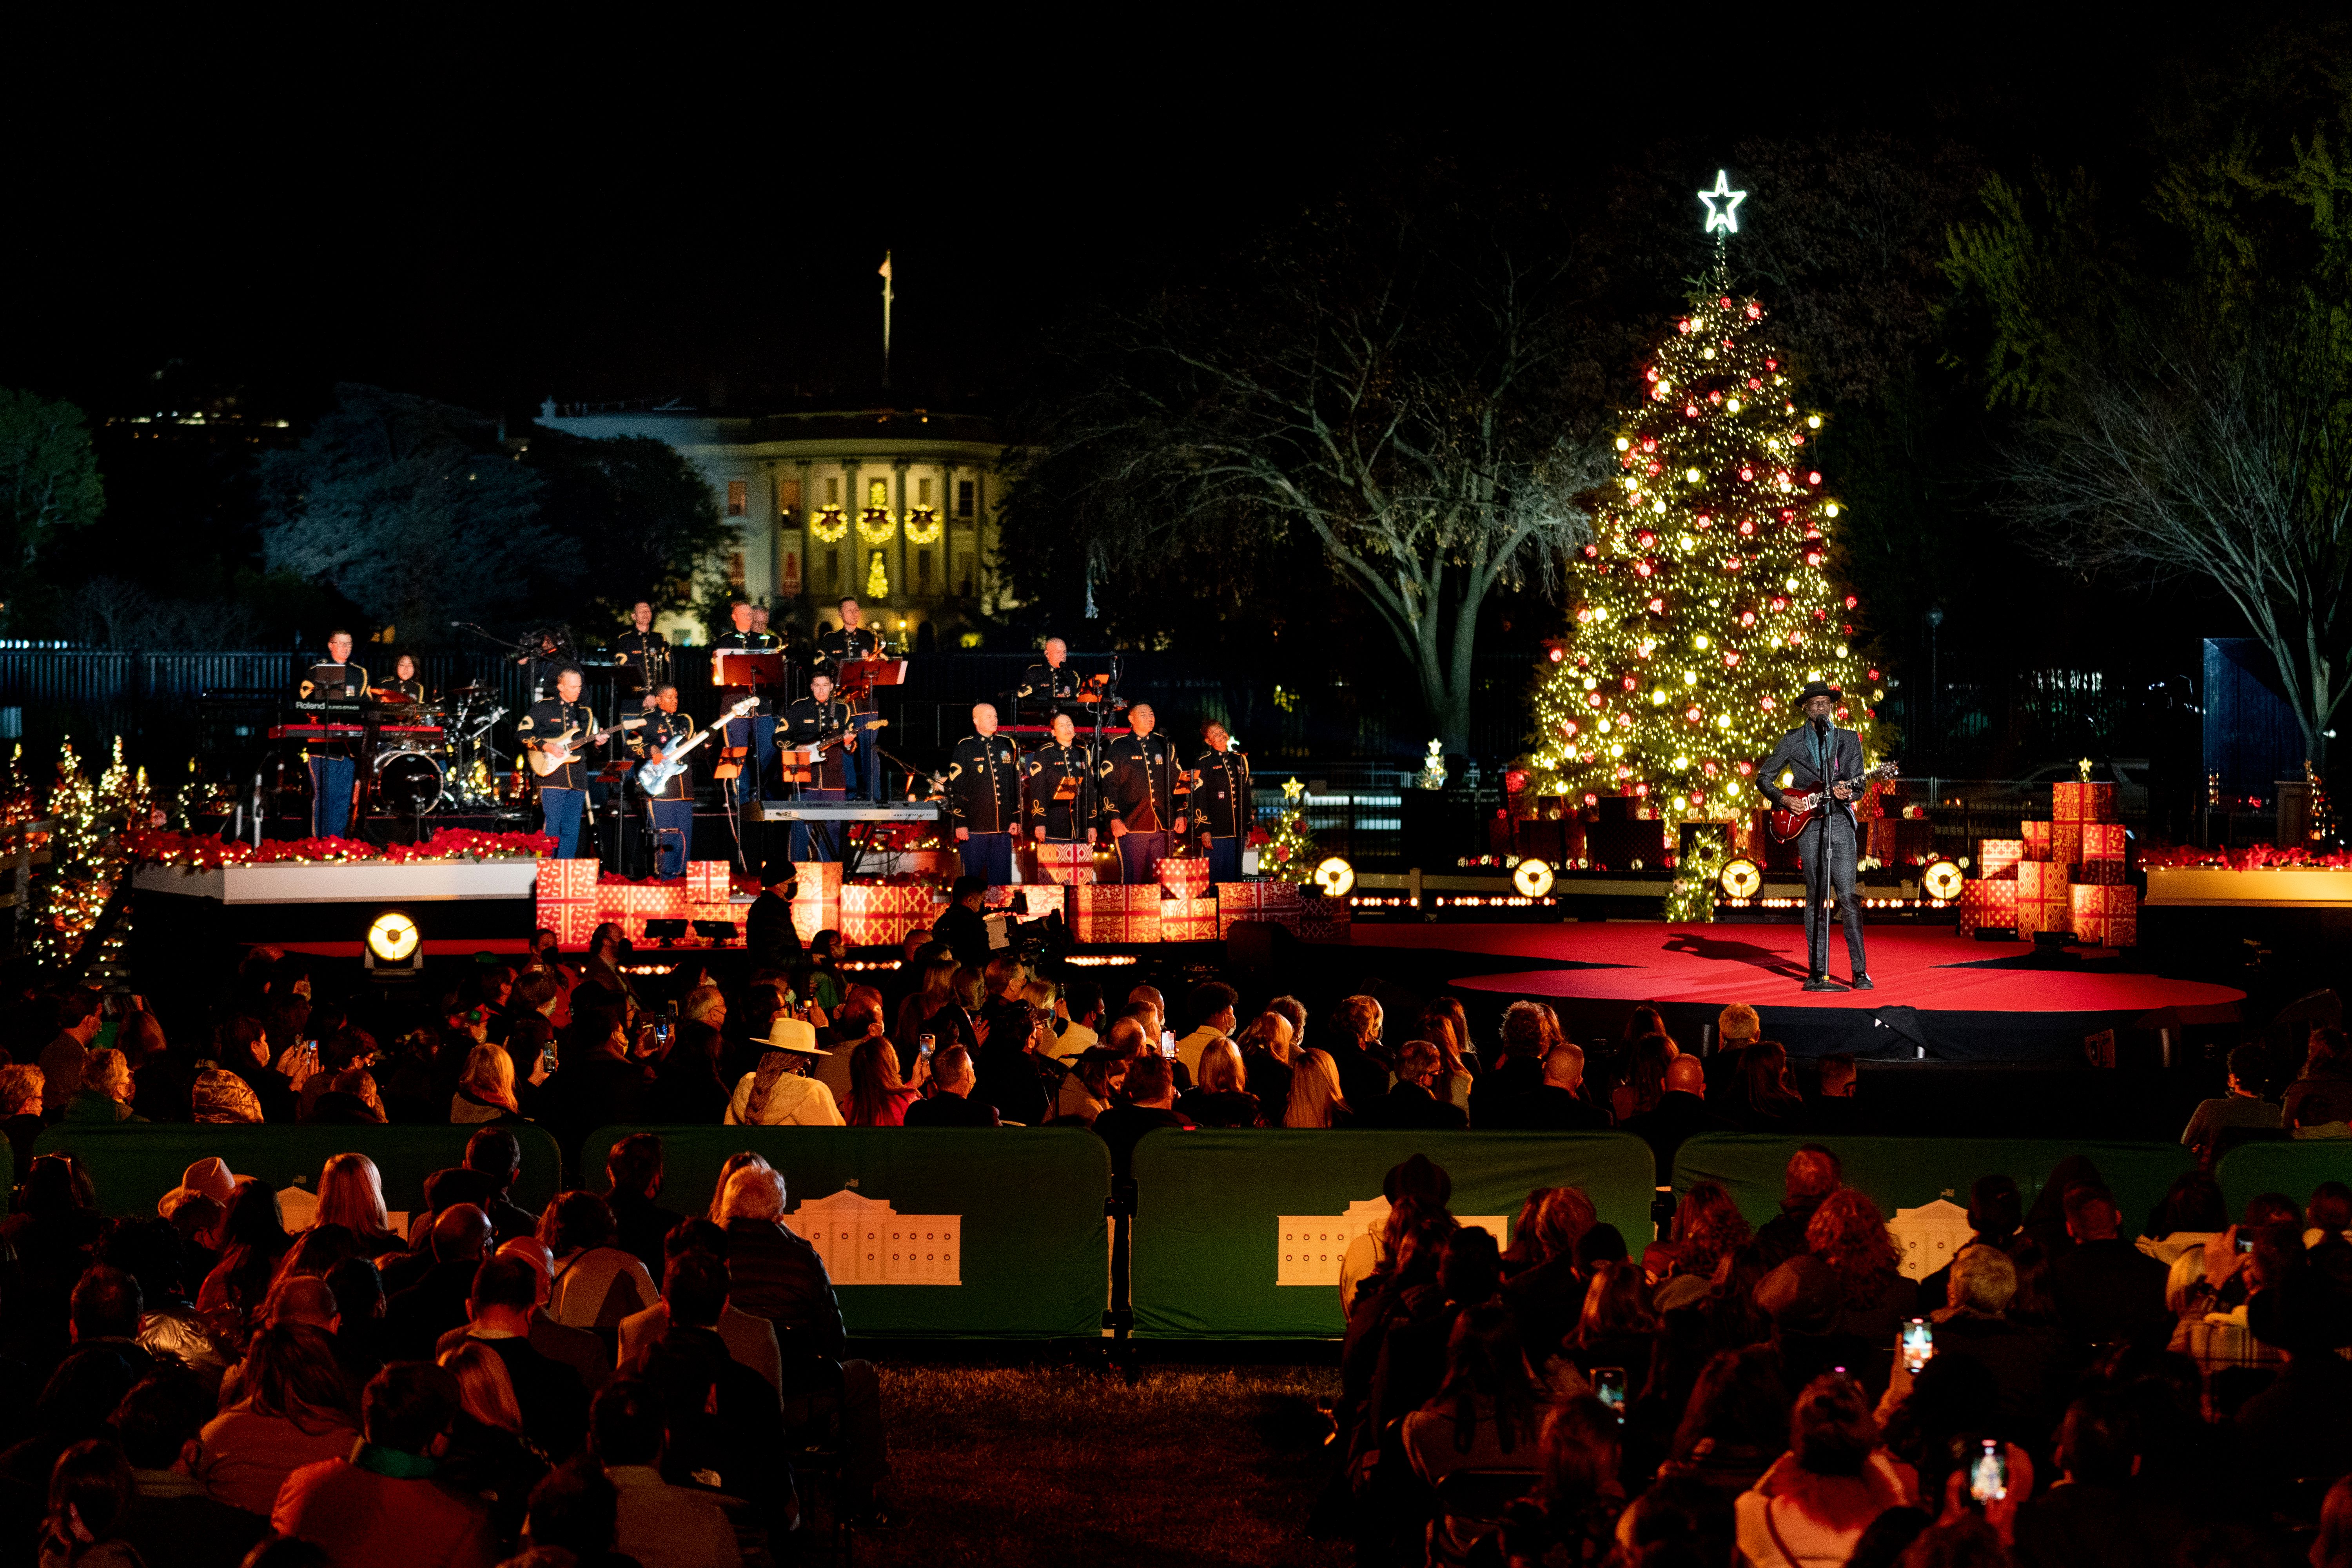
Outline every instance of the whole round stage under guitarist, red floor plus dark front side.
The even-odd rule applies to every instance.
[[[2082,1060],[2103,1030],[2183,1030],[2234,1023],[2244,992],[2124,969],[2114,952],[2051,952],[1980,943],[1943,929],[1870,926],[1867,992],[1806,992],[1804,926],[1668,926],[1581,922],[1545,926],[1357,924],[1355,945],[1526,959],[1529,969],[1463,973],[1472,992],[1534,997],[1562,1009],[1571,1034],[1616,1032],[1656,1001],[1684,1044],[1745,1001],[1792,1056],[1846,1051],[1882,1060]],[[1832,978],[1846,966],[1832,936]]]

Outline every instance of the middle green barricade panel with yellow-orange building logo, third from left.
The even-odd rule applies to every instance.
[[[1508,1241],[1534,1187],[1583,1187],[1635,1253],[1656,1192],[1628,1133],[1411,1133],[1200,1128],[1136,1145],[1136,1333],[1331,1338],[1345,1328],[1338,1262],[1388,1215],[1381,1178],[1428,1154],[1454,1178],[1456,1218]]]

